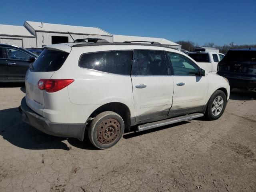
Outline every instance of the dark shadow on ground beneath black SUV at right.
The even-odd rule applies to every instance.
[[[241,100],[241,101],[256,100],[256,92],[233,89],[230,92],[230,100]]]

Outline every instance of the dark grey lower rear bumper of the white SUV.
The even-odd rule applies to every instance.
[[[62,124],[53,123],[50,120],[40,116],[26,104],[25,97],[21,100],[19,107],[22,113],[22,120],[36,129],[54,136],[77,138],[80,141],[84,140],[85,124]]]

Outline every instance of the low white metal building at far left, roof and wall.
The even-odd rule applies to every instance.
[[[0,43],[30,48],[36,47],[36,37],[24,26],[0,24]]]

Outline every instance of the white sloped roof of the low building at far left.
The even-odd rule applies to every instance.
[[[24,26],[1,25],[0,35],[34,37]]]

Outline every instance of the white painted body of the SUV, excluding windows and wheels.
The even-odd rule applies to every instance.
[[[78,60],[83,53],[108,50],[164,50],[186,54],[165,47],[139,45],[106,45],[70,47],[73,44],[52,45],[51,48],[60,50],[70,49],[70,54],[62,67],[56,71],[29,73],[27,84],[31,98],[26,95],[27,104],[32,110],[56,123],[85,123],[92,112],[100,106],[110,102],[125,104],[130,110],[130,117],[141,116],[162,110],[202,106],[207,104],[212,93],[218,88],[226,88],[228,83],[221,76],[209,74],[205,77],[178,76],[122,76],[80,68]],[[194,60],[193,60],[194,61]],[[196,63],[196,62],[195,62]],[[200,66],[200,63],[198,64]],[[74,79],[66,88],[48,93],[36,87],[41,78]],[[184,82],[185,86],[176,86],[177,82]],[[136,84],[146,84],[143,89],[135,89]],[[30,85],[29,85],[30,86]],[[41,92],[40,92],[41,91]],[[43,98],[42,98],[43,95]],[[43,99],[43,107],[28,99]],[[40,102],[40,101],[39,101]]]

